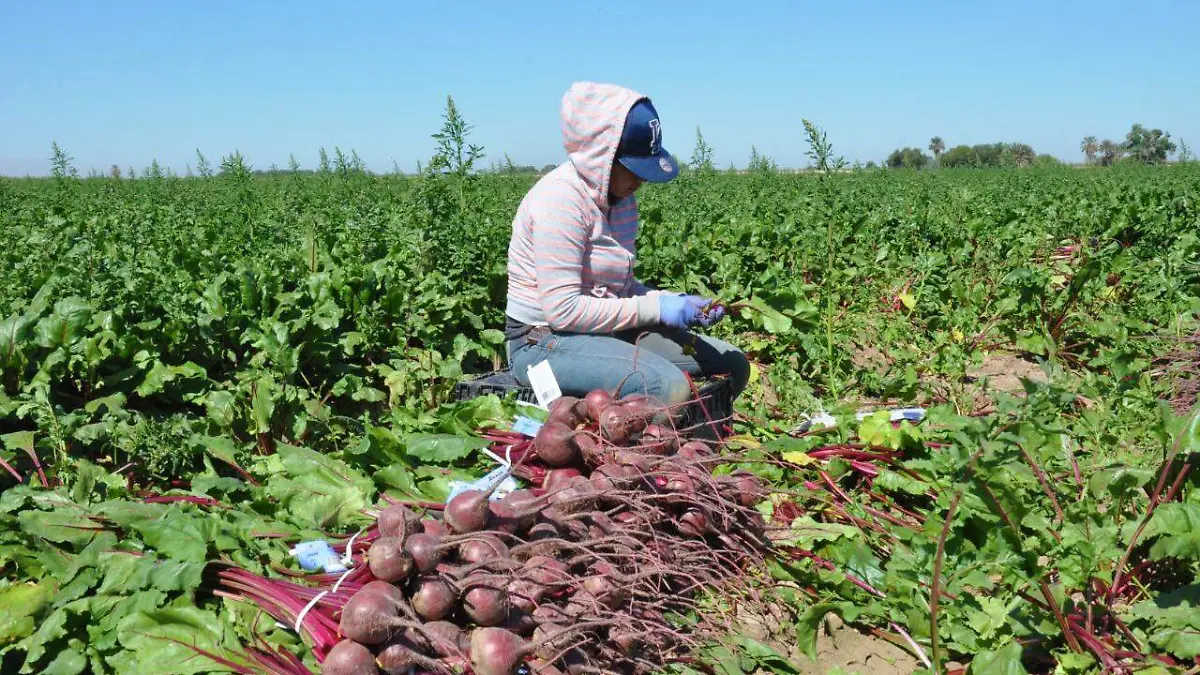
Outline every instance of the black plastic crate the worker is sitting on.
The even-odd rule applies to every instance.
[[[698,400],[688,404],[680,414],[679,426],[688,429],[690,436],[715,441],[726,434],[726,426],[733,417],[733,390],[727,377],[718,377],[697,382]],[[498,370],[463,380],[455,386],[455,398],[460,401],[469,401],[479,396],[496,394],[505,398],[516,394],[517,400],[535,404],[538,396],[533,388],[522,387],[510,370]],[[703,406],[701,406],[701,402]],[[708,414],[704,414],[704,411]],[[712,424],[709,423],[712,419]],[[714,428],[715,425],[715,428]]]

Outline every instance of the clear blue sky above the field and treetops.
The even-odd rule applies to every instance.
[[[649,94],[667,149],[803,166],[802,118],[848,160],[901,145],[1030,143],[1078,160],[1132,123],[1200,148],[1200,1],[59,1],[0,6],[0,174],[80,173],[196,148],[256,168],[433,151],[446,95],[487,163],[563,159],[577,79]]]

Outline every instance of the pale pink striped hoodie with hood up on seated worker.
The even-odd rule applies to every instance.
[[[506,311],[514,319],[571,333],[659,323],[659,292],[634,279],[637,201],[608,205],[625,115],[644,97],[590,82],[563,96],[569,161],[529,190],[512,219]]]

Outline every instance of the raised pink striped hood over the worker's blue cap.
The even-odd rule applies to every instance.
[[[563,147],[588,196],[602,209],[608,204],[608,180],[625,118],[643,98],[632,89],[595,82],[577,82],[563,95]]]

